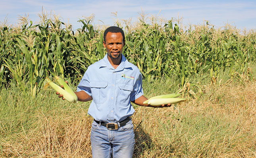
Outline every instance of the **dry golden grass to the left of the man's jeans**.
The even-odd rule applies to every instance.
[[[38,114],[38,127],[3,142],[3,157],[90,157],[91,117],[85,111],[63,117]]]

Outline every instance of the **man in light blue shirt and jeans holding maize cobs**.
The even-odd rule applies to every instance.
[[[94,118],[92,157],[110,158],[113,154],[113,158],[131,158],[135,144],[131,120],[135,110],[131,102],[153,106],[143,104],[147,98],[143,96],[142,75],[137,66],[122,54],[125,45],[123,30],[116,26],[107,28],[103,45],[107,54],[88,67],[75,94],[81,102],[92,100],[88,110]]]

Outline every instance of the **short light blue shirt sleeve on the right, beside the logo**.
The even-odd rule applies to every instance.
[[[139,72],[139,76],[136,78],[135,85],[133,87],[133,91],[131,92],[130,100],[134,101],[143,95],[142,89],[142,75]]]

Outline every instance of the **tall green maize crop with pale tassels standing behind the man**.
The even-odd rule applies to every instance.
[[[19,27],[0,28],[0,87],[15,81],[23,92],[35,96],[47,76],[58,75],[78,83],[87,67],[106,54],[102,41],[106,26],[80,19],[81,28],[42,15],[41,22],[21,21]],[[152,20],[153,21],[153,20]],[[176,76],[181,85],[195,74],[229,70],[250,77],[256,58],[256,32],[242,33],[230,25],[214,28],[209,23],[179,28],[172,20],[146,23],[143,18],[125,30],[123,54],[141,70],[144,79]]]

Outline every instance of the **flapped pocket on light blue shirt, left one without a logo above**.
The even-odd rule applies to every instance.
[[[107,100],[107,87],[108,82],[90,82],[92,91],[92,100],[95,103],[104,103]]]

